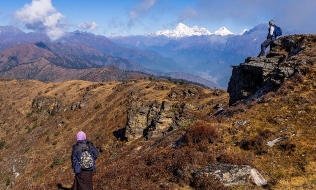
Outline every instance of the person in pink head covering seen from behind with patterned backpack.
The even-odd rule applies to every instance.
[[[99,153],[86,134],[82,131],[77,133],[77,143],[73,146],[72,168],[76,174],[73,190],[92,190],[92,174],[96,169],[95,160]]]

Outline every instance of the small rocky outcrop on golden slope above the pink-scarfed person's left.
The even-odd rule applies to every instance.
[[[45,111],[49,114],[60,113],[63,111],[60,99],[47,96],[36,97],[32,102],[32,108]]]

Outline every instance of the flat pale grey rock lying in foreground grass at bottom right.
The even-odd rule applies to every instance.
[[[258,170],[247,165],[215,163],[193,171],[192,175],[194,177],[212,175],[226,186],[244,185],[250,182],[259,186],[267,185],[267,180],[263,178]]]

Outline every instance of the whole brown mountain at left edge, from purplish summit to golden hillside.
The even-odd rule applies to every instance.
[[[85,59],[57,55],[37,45],[22,44],[0,51],[0,77],[42,81],[123,81],[131,77],[113,66],[100,68]]]

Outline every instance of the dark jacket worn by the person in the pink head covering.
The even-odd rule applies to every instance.
[[[95,166],[95,160],[98,158],[98,151],[96,150],[96,148],[94,147],[93,143],[90,140],[79,140],[77,141],[77,143],[73,146],[73,152],[72,152],[72,168],[74,169],[74,173],[80,173],[81,169],[80,169],[80,165],[79,162],[81,161],[81,155],[82,155],[82,150],[84,148],[87,148],[92,160],[93,160],[93,166],[91,169],[87,169],[87,170],[95,170],[96,166]]]

